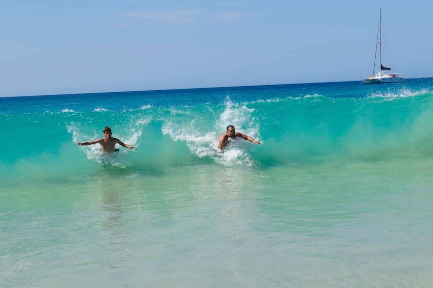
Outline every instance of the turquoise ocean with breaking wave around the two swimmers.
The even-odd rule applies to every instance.
[[[433,286],[432,123],[433,78],[0,98],[0,286]]]

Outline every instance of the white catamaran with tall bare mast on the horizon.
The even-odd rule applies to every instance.
[[[377,56],[377,44],[379,44],[379,72],[375,76],[370,76],[362,80],[363,84],[380,84],[380,83],[396,83],[405,82],[406,79],[403,76],[399,76],[398,73],[392,73],[391,68],[382,65],[382,8],[379,13],[379,31],[377,33],[379,41],[376,41],[376,53],[374,55],[373,64],[373,75],[376,67],[376,56]],[[385,72],[384,72],[385,71]]]

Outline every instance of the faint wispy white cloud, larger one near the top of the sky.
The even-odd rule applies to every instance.
[[[128,18],[153,19],[161,22],[187,24],[193,23],[200,10],[134,11],[124,14]]]

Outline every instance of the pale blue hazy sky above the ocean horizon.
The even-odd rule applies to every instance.
[[[0,97],[433,77],[433,1],[0,0]],[[383,39],[382,39],[383,40]]]

